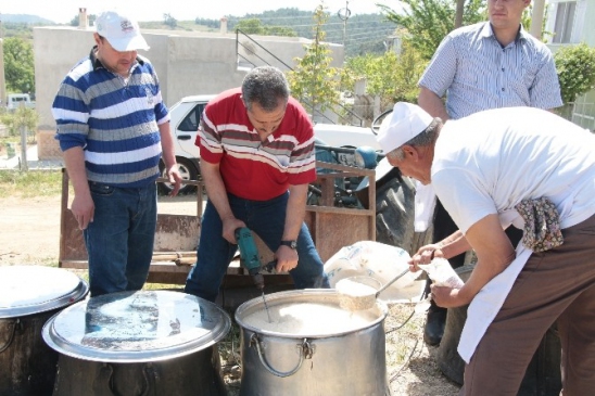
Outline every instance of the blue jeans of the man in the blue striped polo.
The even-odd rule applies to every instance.
[[[91,296],[142,289],[157,223],[155,186],[126,189],[89,182],[96,210],[84,237]]]

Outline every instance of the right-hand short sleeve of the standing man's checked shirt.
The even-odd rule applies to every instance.
[[[556,63],[549,50],[544,54],[544,63],[535,76],[530,97],[532,107],[550,110],[562,105]]]

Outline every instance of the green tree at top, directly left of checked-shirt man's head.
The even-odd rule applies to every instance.
[[[456,2],[453,0],[403,0],[407,4],[400,14],[388,5],[378,4],[387,18],[410,35],[412,46],[425,60],[430,60],[440,41],[455,27]],[[463,25],[486,20],[483,0],[467,0]]]

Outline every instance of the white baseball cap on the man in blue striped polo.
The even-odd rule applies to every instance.
[[[148,50],[149,46],[140,35],[140,28],[136,21],[121,15],[115,11],[101,13],[96,22],[97,33],[105,37],[114,50],[136,51]]]

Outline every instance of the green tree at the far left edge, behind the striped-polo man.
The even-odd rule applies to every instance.
[[[35,92],[33,46],[17,37],[4,39],[4,79],[9,92]]]

